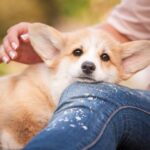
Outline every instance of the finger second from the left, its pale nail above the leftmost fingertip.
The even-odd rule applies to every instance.
[[[6,37],[3,41],[3,47],[4,47],[4,51],[6,52],[6,54],[11,58],[11,59],[15,59],[17,58],[17,52],[15,50],[12,49],[8,38]]]

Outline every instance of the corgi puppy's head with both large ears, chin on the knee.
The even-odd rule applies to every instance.
[[[119,82],[150,64],[150,41],[120,44],[96,29],[61,33],[47,25],[29,27],[31,44],[60,76],[86,82]]]

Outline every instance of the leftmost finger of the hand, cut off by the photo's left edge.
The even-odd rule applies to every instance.
[[[10,62],[10,58],[4,50],[4,47],[0,47],[0,62],[8,64]]]

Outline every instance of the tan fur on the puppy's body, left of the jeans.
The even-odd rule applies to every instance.
[[[19,145],[45,127],[55,109],[47,87],[38,82],[42,78],[38,67],[0,81],[0,132],[11,133]]]

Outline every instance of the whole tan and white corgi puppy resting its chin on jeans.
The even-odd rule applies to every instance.
[[[51,118],[64,89],[73,82],[119,83],[150,65],[150,41],[120,44],[104,31],[61,33],[35,23],[32,46],[43,64],[0,78],[0,143],[22,149]]]

